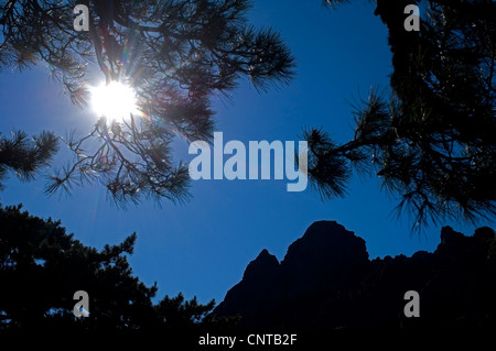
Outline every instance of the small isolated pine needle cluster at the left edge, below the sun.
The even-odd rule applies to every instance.
[[[21,180],[31,180],[40,168],[50,164],[58,150],[58,140],[51,132],[31,139],[22,131],[11,134],[9,139],[0,133],[0,189],[9,171]]]

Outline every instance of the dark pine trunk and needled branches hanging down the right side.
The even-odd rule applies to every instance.
[[[414,215],[413,228],[495,215],[496,6],[423,1],[420,32],[408,32],[410,3],[419,1],[377,1],[375,14],[389,30],[391,92],[373,90],[355,107],[348,143],[335,144],[322,130],[305,132],[310,178],[332,198],[345,194],[352,165],[374,171],[400,196],[398,213],[407,207]]]

